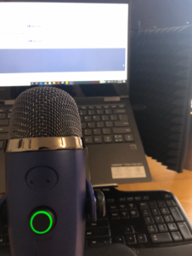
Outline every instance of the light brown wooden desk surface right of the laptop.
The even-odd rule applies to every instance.
[[[178,197],[192,223],[192,171],[184,170],[183,173],[168,170],[156,160],[147,157],[152,176],[150,183],[121,184],[118,189],[136,190],[169,190]]]

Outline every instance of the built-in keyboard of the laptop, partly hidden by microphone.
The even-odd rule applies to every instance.
[[[133,134],[124,104],[78,107],[82,136],[86,144],[131,143]],[[0,108],[0,149],[8,139],[8,124],[12,108]]]

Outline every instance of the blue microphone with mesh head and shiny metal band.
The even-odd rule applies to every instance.
[[[14,102],[6,148],[8,235],[13,256],[82,256],[86,172],[76,102],[35,87]]]

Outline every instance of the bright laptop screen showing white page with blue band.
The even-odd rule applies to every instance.
[[[0,3],[0,38],[0,86],[127,82],[126,3]]]

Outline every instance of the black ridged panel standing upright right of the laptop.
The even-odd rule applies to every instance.
[[[145,153],[182,172],[189,130],[192,26],[133,33],[130,97]],[[134,109],[133,109],[134,110]]]

